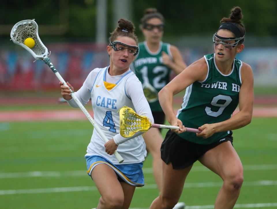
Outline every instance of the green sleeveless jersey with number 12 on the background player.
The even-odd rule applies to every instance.
[[[141,83],[150,83],[158,92],[169,83],[170,71],[162,63],[162,51],[171,58],[170,44],[160,42],[156,53],[150,52],[146,42],[139,43],[139,54],[134,61],[134,72]],[[159,101],[149,102],[152,111],[162,111]]]

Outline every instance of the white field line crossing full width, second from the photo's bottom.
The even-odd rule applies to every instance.
[[[261,180],[244,182],[243,187],[252,186],[276,186],[277,181]],[[184,188],[203,188],[203,187],[221,187],[222,182],[199,182],[186,183]],[[147,184],[143,188],[136,189],[137,192],[145,189],[157,189],[156,184]],[[15,194],[37,194],[37,193],[57,193],[57,192],[78,192],[78,191],[97,191],[96,187],[56,187],[56,188],[39,188],[39,189],[9,189],[0,190],[0,195],[15,195]]]

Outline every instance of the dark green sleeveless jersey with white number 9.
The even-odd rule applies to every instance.
[[[177,113],[177,118],[185,127],[198,129],[206,123],[227,120],[239,103],[242,61],[235,59],[231,73],[224,75],[216,66],[214,54],[207,54],[204,58],[208,65],[207,77],[204,81],[196,81],[187,87],[182,106]],[[179,136],[197,144],[212,144],[229,133],[218,132],[207,139],[190,132],[181,133]]]

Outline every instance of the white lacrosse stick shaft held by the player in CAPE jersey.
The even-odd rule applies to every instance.
[[[57,76],[57,78],[63,82],[63,84],[65,86],[68,86],[65,82],[65,80],[63,80],[63,78],[61,77],[61,75],[59,74],[59,72],[57,71],[57,69],[55,69],[54,65],[51,63],[51,60],[47,57],[44,58],[43,61],[51,68],[51,70],[55,73],[55,75]],[[69,87],[69,86],[68,86]],[[74,94],[74,92],[71,93],[72,98],[74,99],[74,101],[76,101],[77,105],[79,106],[79,108],[83,111],[83,113],[87,116],[87,118],[89,119],[90,123],[93,125],[93,127],[96,129],[96,131],[100,134],[101,138],[103,139],[103,141],[106,143],[108,142],[108,138],[104,135],[104,133],[101,131],[101,129],[99,128],[99,126],[95,123],[95,121],[93,120],[93,118],[91,117],[91,115],[89,114],[89,112],[87,112],[87,110],[85,109],[85,107],[83,106],[83,104],[79,101],[79,99],[76,97],[76,95]],[[122,163],[124,161],[124,159],[121,157],[121,155],[119,155],[119,153],[115,150],[115,152],[113,153],[116,157],[116,159],[118,160],[119,163]]]

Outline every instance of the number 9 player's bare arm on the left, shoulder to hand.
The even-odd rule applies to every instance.
[[[179,126],[179,130],[172,130],[177,133],[184,132],[184,126],[181,120],[177,119],[173,110],[173,95],[186,89],[195,81],[205,80],[208,72],[208,67],[204,58],[192,63],[178,76],[173,78],[162,90],[159,92],[159,102],[166,115],[167,120],[171,125]]]

